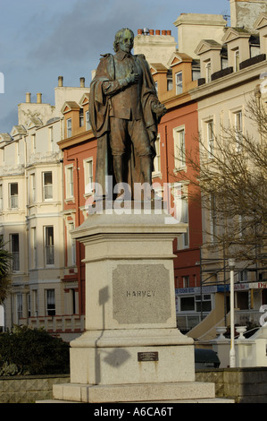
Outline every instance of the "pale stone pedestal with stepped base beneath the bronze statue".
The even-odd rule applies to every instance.
[[[71,342],[71,383],[54,398],[138,402],[214,398],[195,382],[193,339],[176,328],[172,242],[186,226],[163,211],[90,215],[86,331]]]

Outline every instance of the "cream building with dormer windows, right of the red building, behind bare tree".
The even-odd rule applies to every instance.
[[[235,3],[238,5],[240,2]],[[222,126],[235,127],[237,132],[247,132],[255,140],[259,139],[260,135],[249,119],[246,107],[255,95],[261,97],[263,107],[267,104],[267,4],[264,3],[265,13],[258,15],[253,23],[249,22],[254,27],[253,31],[229,27],[221,42],[202,39],[196,47],[203,84],[191,90],[190,94],[198,104],[199,133],[207,150],[213,150],[216,135],[221,134]],[[251,15],[253,18],[254,14]],[[203,229],[211,235],[216,229],[215,216],[207,211],[203,211]],[[222,260],[222,253],[215,250],[214,246],[214,253],[203,253],[203,286],[219,285],[214,292],[222,295],[224,282],[228,284],[229,293],[229,268],[228,262]],[[235,308],[236,324],[239,325],[247,322],[259,325],[259,310],[266,303],[267,273],[260,267],[258,271],[255,269],[248,262],[236,262]],[[216,324],[225,324],[228,305],[223,308],[225,302],[218,298],[212,314],[196,326],[189,333],[190,336],[212,339],[216,336]],[[202,337],[207,331],[208,336]]]

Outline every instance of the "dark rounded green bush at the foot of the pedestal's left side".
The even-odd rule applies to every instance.
[[[69,349],[44,330],[16,327],[0,334],[0,375],[68,374]]]

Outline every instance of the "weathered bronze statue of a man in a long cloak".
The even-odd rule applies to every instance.
[[[133,56],[134,34],[115,35],[115,55],[100,59],[90,87],[90,123],[97,138],[96,183],[106,195],[106,176],[116,184],[152,185],[157,125],[166,109],[158,100],[149,65]],[[120,193],[119,193],[120,195]]]

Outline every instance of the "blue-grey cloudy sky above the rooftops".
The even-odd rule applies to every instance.
[[[0,133],[18,124],[26,92],[54,105],[58,76],[89,86],[117,30],[171,30],[177,42],[180,13],[229,15],[229,0],[0,0]]]

